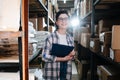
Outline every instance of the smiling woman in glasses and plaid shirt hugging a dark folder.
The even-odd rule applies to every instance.
[[[59,11],[56,14],[57,30],[47,37],[42,52],[42,58],[45,61],[45,65],[43,68],[43,77],[45,80],[71,80],[72,59],[73,56],[75,55],[74,50],[72,50],[65,57],[57,57],[51,55],[50,53],[53,43],[74,46],[73,37],[66,32],[68,24],[69,15],[67,11],[65,10]],[[67,65],[61,66],[61,64],[64,62],[66,62]]]

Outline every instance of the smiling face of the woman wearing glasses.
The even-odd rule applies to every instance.
[[[60,16],[58,17],[58,20],[56,21],[56,24],[59,27],[59,29],[67,29],[68,22],[69,22],[68,15],[60,14]]]

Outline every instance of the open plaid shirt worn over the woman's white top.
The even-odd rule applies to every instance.
[[[73,37],[66,33],[66,40],[69,46],[74,46]],[[56,32],[51,33],[46,41],[42,52],[42,59],[45,61],[43,78],[45,80],[60,80],[60,62],[55,61],[56,56],[50,55],[52,43],[59,44],[59,37]],[[66,80],[71,80],[72,61],[67,62]]]

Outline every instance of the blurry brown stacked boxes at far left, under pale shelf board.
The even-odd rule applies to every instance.
[[[18,54],[17,38],[0,39],[0,55],[6,54]]]

